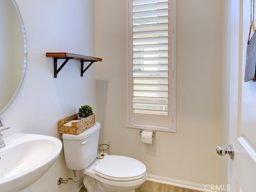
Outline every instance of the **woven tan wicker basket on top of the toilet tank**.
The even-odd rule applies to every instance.
[[[68,116],[64,119],[58,121],[58,130],[59,133],[66,133],[72,135],[78,135],[85,131],[86,129],[90,128],[95,124],[95,114],[88,116],[78,122],[71,122],[71,126],[64,126],[64,124],[72,121],[77,120],[77,114],[72,116]]]

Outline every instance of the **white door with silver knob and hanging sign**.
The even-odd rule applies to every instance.
[[[256,81],[244,82],[250,3],[230,0],[229,143],[235,150],[228,162],[231,192],[256,191]]]

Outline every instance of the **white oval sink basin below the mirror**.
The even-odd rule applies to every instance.
[[[15,134],[4,138],[0,149],[0,191],[23,190],[36,182],[54,163],[62,149],[55,137]]]

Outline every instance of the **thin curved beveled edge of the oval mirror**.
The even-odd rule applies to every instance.
[[[20,88],[22,86],[22,82],[24,80],[25,72],[26,72],[26,66],[27,66],[27,39],[26,39],[26,32],[25,32],[25,27],[24,23],[20,14],[20,10],[18,8],[18,5],[16,4],[16,0],[12,0],[12,3],[14,5],[14,8],[16,9],[16,12],[18,14],[18,17],[20,19],[20,25],[22,28],[22,35],[23,35],[23,43],[24,43],[24,62],[23,62],[23,68],[22,68],[22,76],[20,78],[20,82],[18,83],[18,88],[14,92],[12,98],[10,98],[9,102],[0,110],[0,115],[2,115],[14,102],[16,96],[18,95],[18,92],[20,91]]]

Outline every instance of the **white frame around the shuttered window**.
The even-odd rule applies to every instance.
[[[149,125],[137,125],[131,124],[134,114],[132,114],[132,104],[133,104],[133,91],[132,91],[132,76],[133,76],[133,38],[132,38],[132,0],[127,1],[127,78],[126,78],[126,127],[137,128],[137,129],[147,129],[147,130],[159,130],[167,132],[176,132],[176,0],[168,0],[168,113],[169,119],[172,121],[170,127],[168,126],[149,126]],[[138,115],[138,114],[135,114]],[[138,115],[140,116],[140,115]],[[143,116],[143,115],[142,115]],[[150,117],[159,119],[162,116],[148,115]]]

